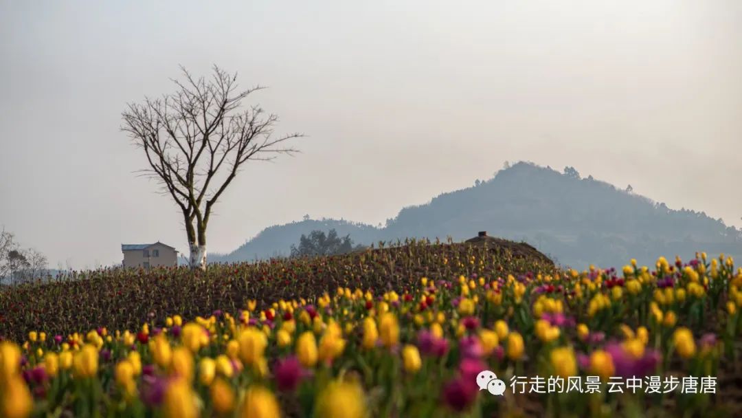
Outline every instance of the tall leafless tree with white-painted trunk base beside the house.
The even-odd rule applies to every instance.
[[[244,163],[294,153],[283,143],[301,134],[274,137],[275,114],[255,105],[242,108],[260,86],[241,90],[237,74],[216,66],[209,80],[181,70],[184,80],[173,80],[175,93],[128,105],[122,131],[144,151],[150,167],[145,174],[159,181],[183,213],[188,264],[205,270],[206,227],[217,200]]]

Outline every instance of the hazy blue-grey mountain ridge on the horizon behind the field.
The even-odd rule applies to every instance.
[[[402,209],[382,228],[335,220],[305,220],[271,226],[228,255],[210,261],[249,261],[288,255],[302,234],[314,229],[350,234],[357,244],[404,238],[462,241],[487,231],[527,241],[559,264],[620,267],[630,258],[654,264],[659,255],[687,259],[695,251],[720,252],[742,260],[742,230],[704,212],[669,209],[630,190],[581,178],[574,169],[557,172],[517,163],[476,186]]]

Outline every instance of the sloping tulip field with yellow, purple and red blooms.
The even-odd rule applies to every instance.
[[[735,417],[741,307],[742,268],[705,253],[577,271],[406,241],[77,272],[0,290],[0,417]]]

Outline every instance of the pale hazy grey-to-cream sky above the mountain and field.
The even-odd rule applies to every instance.
[[[179,64],[269,86],[278,131],[308,135],[232,184],[210,251],[305,214],[383,222],[505,160],[742,226],[738,0],[0,0],[0,59],[0,225],[53,268],[187,249],[119,131]]]

